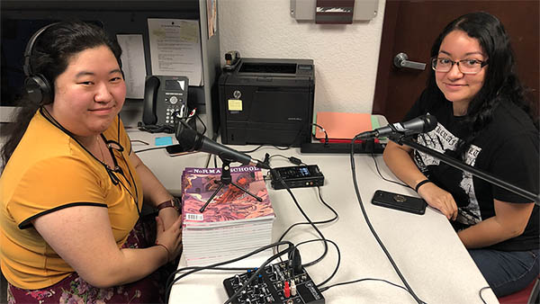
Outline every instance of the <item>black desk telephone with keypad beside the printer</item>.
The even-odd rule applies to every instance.
[[[144,86],[142,130],[174,133],[180,119],[189,114],[186,76],[148,76]]]

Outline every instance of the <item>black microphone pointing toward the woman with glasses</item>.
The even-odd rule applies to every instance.
[[[413,134],[426,133],[437,127],[437,118],[433,115],[422,115],[405,122],[396,122],[386,127],[377,128],[372,131],[365,131],[358,135],[358,139],[376,139],[391,135],[409,136]]]

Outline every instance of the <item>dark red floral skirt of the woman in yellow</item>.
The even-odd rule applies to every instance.
[[[144,248],[148,239],[155,239],[154,217],[139,220],[122,248]],[[12,303],[164,303],[166,280],[175,271],[176,264],[170,263],[157,269],[147,277],[129,284],[111,288],[96,288],[77,273],[40,290],[23,290],[7,286],[7,302]]]

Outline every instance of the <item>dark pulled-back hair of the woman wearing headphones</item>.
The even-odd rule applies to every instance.
[[[34,75],[44,76],[49,81],[54,96],[55,81],[66,71],[69,59],[85,49],[99,46],[111,49],[121,67],[120,45],[101,27],[87,22],[58,22],[41,32],[35,41],[30,57],[32,72]],[[7,128],[8,135],[1,152],[3,165],[7,164],[23,138],[31,118],[42,105],[31,102],[26,96],[23,96],[19,104],[21,107],[14,114],[14,122]]]

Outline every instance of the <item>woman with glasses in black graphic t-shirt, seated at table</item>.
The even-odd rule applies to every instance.
[[[515,74],[509,37],[489,13],[450,22],[431,49],[428,86],[404,121],[437,117],[419,144],[455,157],[529,192],[539,191],[538,121]],[[538,276],[538,206],[390,142],[384,161],[428,205],[451,220],[498,297]]]

